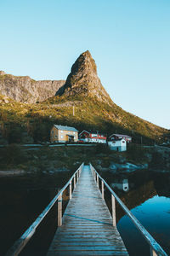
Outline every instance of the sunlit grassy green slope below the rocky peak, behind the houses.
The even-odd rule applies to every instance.
[[[141,136],[143,143],[161,141],[168,133],[166,129],[127,113],[113,102],[99,102],[95,97],[55,96],[46,102],[24,104],[0,96],[1,130],[3,137],[12,137],[12,143],[13,140],[22,143],[22,134],[26,132],[35,141],[47,141],[53,124],[72,125],[79,131],[97,130],[108,135],[123,132],[133,136],[137,143]]]

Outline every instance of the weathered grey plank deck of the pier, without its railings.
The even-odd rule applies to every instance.
[[[48,256],[128,255],[113,226],[89,166],[84,166],[77,187],[63,216],[63,225],[54,236]]]

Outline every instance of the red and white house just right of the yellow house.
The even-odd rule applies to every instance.
[[[106,136],[99,132],[82,131],[79,134],[79,139],[85,143],[106,143]]]

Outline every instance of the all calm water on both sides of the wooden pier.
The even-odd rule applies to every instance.
[[[146,230],[158,241],[170,255],[170,175],[148,171],[134,173],[101,173],[108,183],[121,183],[127,179],[129,189],[123,192],[114,189],[126,206],[139,219]],[[59,177],[35,177],[0,180],[0,255],[20,237],[48,202],[54,198],[56,188],[62,187],[71,173],[59,173]],[[40,186],[41,181],[41,186]],[[61,182],[62,181],[62,182]],[[111,195],[107,195],[108,205]],[[67,195],[65,195],[67,201]],[[42,226],[26,250],[24,256],[44,256],[54,236],[57,208],[44,220]],[[117,228],[121,233],[130,256],[150,255],[147,242],[139,230],[116,205]],[[45,234],[45,235],[44,235]]]

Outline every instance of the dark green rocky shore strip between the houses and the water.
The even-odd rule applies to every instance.
[[[160,148],[143,148],[139,145],[129,145],[127,151],[111,151],[106,145],[97,146],[64,146],[49,148],[22,147],[19,144],[9,144],[0,148],[0,171],[24,170],[29,174],[54,174],[74,172],[84,162],[91,162],[98,171],[109,171],[112,164],[134,165],[149,164],[151,169],[169,170],[169,151],[159,152]]]

